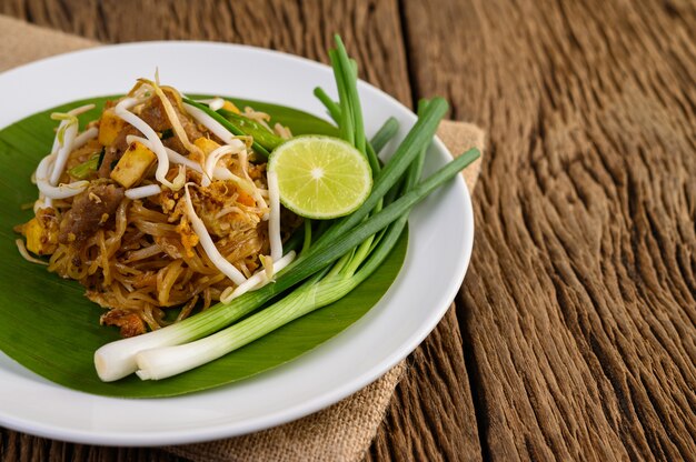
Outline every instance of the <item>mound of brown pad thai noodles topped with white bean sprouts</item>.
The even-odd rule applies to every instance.
[[[290,137],[265,113],[206,103]],[[48,270],[79,281],[108,310],[101,323],[123,337],[167,324],[168,308],[181,320],[272,278],[300,219],[286,210],[279,219],[252,137],[220,130],[176,89],[146,79],[79,131],[77,117],[92,108],[52,114],[34,217],[17,227],[26,258],[48,255]]]

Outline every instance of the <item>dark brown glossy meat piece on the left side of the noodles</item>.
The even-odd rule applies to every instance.
[[[60,221],[58,241],[63,244],[80,242],[106,224],[123,199],[123,189],[113,184],[91,184],[76,195],[72,208]]]

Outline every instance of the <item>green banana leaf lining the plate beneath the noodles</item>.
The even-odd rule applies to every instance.
[[[84,297],[71,280],[26,261],[13,227],[32,217],[27,204],[38,197],[30,177],[50,150],[57,122],[49,114],[95,102],[80,117],[81,128],[99,117],[103,103],[116,97],[74,101],[28,117],[0,131],[0,350],[27,369],[60,385],[88,393],[123,396],[172,396],[225,385],[284,364],[320,345],[365,314],[385,294],[404,262],[407,237],[375,274],[337,303],[315,311],[251,344],[185,374],[142,382],[131,375],[101,382],[92,355],[102,344],[119,339],[116,328],[99,325],[103,309]],[[294,133],[336,134],[321,119],[290,108],[236,100],[268,112]]]

